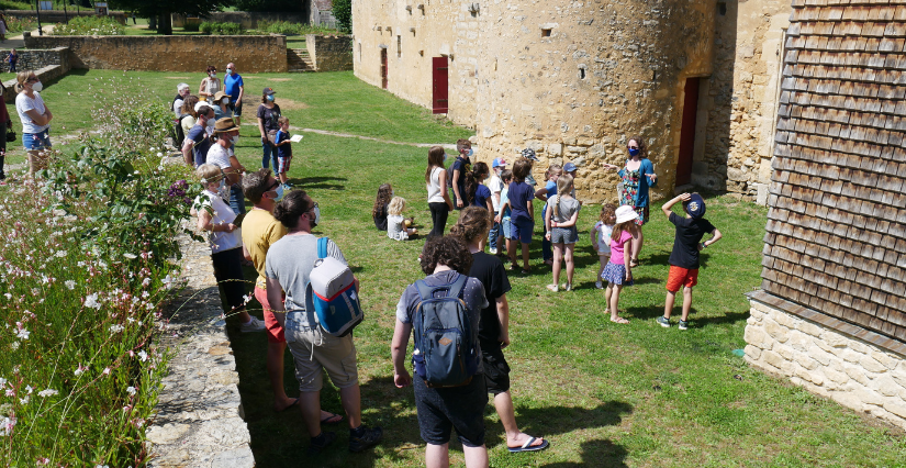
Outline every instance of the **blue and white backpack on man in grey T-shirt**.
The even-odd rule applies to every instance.
[[[317,260],[305,287],[305,309],[331,336],[346,336],[361,323],[356,277],[343,261],[327,256],[327,237],[317,239]]]

